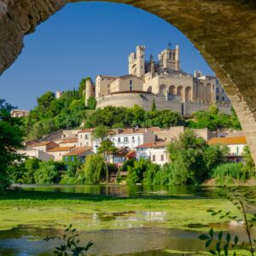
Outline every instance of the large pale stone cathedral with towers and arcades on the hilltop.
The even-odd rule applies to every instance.
[[[139,45],[128,59],[127,75],[98,75],[95,84],[86,80],[85,104],[94,96],[97,108],[109,105],[131,108],[137,104],[148,111],[155,102],[157,109],[169,109],[186,116],[217,103],[221,111],[229,113],[229,98],[216,77],[199,71],[194,75],[183,72],[178,45],[160,52],[157,61],[152,55],[145,60],[145,46]]]

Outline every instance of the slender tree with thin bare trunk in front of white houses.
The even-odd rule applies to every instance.
[[[92,136],[100,143],[100,147],[97,148],[97,152],[99,154],[103,154],[103,158],[106,164],[106,181],[108,183],[109,155],[113,154],[117,150],[117,148],[115,148],[113,145],[113,141],[111,140],[111,137],[113,136],[113,131],[110,130],[107,126],[100,125],[97,126],[96,129],[93,131]]]

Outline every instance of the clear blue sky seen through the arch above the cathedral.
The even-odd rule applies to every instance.
[[[73,90],[85,77],[128,73],[128,55],[146,46],[146,58],[171,42],[181,68],[214,75],[199,51],[165,20],[120,3],[69,3],[24,38],[24,49],[0,76],[0,98],[32,109],[46,91]]]

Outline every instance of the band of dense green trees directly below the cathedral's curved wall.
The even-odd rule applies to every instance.
[[[175,125],[184,125],[183,117],[169,110],[155,110],[146,112],[143,108],[134,105],[133,108],[112,107],[98,108],[88,116],[84,126],[87,128],[105,125],[112,128],[150,127],[160,126],[169,128]]]

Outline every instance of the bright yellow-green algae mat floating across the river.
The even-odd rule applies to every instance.
[[[216,227],[219,222],[206,212],[209,208],[236,212],[224,199],[189,195],[113,197],[18,190],[0,195],[0,229],[9,230],[19,224],[62,228],[72,223],[79,230],[150,226],[208,230],[207,224]]]

